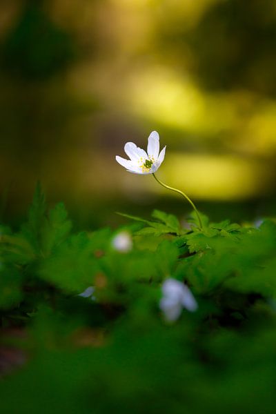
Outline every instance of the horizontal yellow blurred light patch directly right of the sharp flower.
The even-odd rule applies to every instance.
[[[231,155],[170,154],[157,174],[191,197],[221,201],[253,197],[270,181],[264,164]]]

